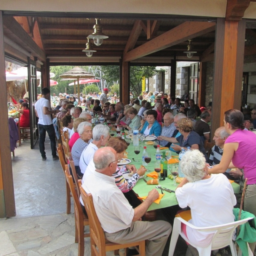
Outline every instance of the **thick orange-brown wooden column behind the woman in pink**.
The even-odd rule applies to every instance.
[[[222,126],[224,112],[241,107],[245,20],[217,19],[212,101],[212,135]]]

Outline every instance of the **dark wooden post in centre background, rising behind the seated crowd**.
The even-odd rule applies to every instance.
[[[120,60],[120,101],[123,102],[124,105],[128,105],[130,103],[130,63],[124,62]]]

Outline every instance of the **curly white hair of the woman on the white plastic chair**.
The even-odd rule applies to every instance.
[[[189,182],[201,180],[206,174],[204,167],[204,155],[197,149],[186,152],[180,160],[181,171]]]

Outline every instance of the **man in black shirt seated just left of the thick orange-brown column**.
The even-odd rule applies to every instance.
[[[195,122],[194,131],[199,134],[203,142],[210,139],[210,127],[207,122],[211,121],[211,114],[205,110],[201,113],[201,119]]]

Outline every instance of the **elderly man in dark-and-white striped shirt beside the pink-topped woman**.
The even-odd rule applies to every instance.
[[[224,126],[219,127],[216,129],[214,133],[213,140],[215,142],[215,146],[212,147],[211,154],[209,157],[209,163],[211,165],[216,165],[221,162],[221,157],[223,154],[223,148],[225,140],[229,137],[229,134],[227,133]],[[230,180],[235,180],[230,174],[230,169],[227,169],[226,172],[224,172],[224,175],[227,176]]]

